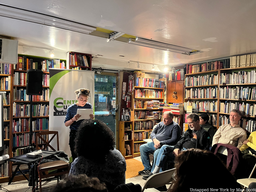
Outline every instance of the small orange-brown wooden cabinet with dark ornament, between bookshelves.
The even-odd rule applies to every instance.
[[[174,94],[173,92],[177,92]],[[173,94],[175,97],[173,97]],[[167,101],[168,103],[183,103],[184,81],[168,81]]]

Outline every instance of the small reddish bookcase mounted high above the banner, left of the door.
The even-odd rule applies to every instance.
[[[75,70],[92,70],[92,55],[78,52],[68,52],[67,66]]]

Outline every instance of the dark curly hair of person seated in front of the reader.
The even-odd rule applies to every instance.
[[[114,150],[114,133],[98,120],[85,119],[78,127],[75,139],[77,156],[104,163],[109,150]]]

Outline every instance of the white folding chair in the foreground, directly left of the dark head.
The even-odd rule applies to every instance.
[[[170,182],[172,182],[172,175],[173,175],[175,170],[176,170],[176,168],[173,168],[173,169],[170,169],[170,170],[167,170],[167,171],[163,171],[163,172],[151,175],[146,180],[141,192],[144,192],[144,191],[146,191],[146,192],[158,191],[155,188],[161,187],[161,186],[166,185],[166,184],[169,184]],[[168,188],[167,191],[169,191],[170,188],[171,188],[171,186]]]

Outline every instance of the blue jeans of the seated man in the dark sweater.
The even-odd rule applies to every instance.
[[[151,170],[149,153],[154,153],[154,158],[156,158],[155,153],[157,155],[160,151],[160,149],[156,149],[154,145],[154,142],[148,142],[140,146],[140,157],[145,170]]]

